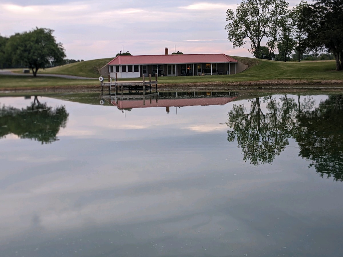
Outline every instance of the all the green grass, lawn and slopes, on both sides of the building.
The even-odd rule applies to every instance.
[[[248,64],[244,72],[233,75],[205,75],[205,76],[171,76],[158,77],[158,84],[185,84],[206,82],[242,82],[259,81],[269,79],[290,80],[340,80],[343,81],[343,72],[335,71],[334,61],[313,62],[277,62],[259,60],[254,58],[235,57],[241,62]],[[42,73],[67,74],[86,77],[98,77],[95,67],[102,66],[111,58],[72,63],[64,66],[49,68]],[[1,73],[0,73],[1,74]],[[146,78],[147,79],[147,78]],[[105,78],[105,81],[107,78]],[[122,81],[131,79],[120,79]],[[141,78],[137,78],[141,80]],[[155,80],[153,77],[152,80]],[[37,88],[57,86],[82,86],[99,85],[99,81],[86,79],[65,79],[57,77],[31,77],[0,75],[0,88]]]

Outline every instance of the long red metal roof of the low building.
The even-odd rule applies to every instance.
[[[108,65],[128,64],[181,64],[181,63],[225,63],[238,62],[224,53],[208,54],[161,54],[161,55],[122,55],[117,56]]]

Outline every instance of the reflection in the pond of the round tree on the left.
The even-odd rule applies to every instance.
[[[0,108],[0,138],[12,133],[42,144],[52,143],[58,140],[57,133],[66,126],[68,116],[64,106],[53,109],[40,103],[37,96],[25,109],[3,106]]]

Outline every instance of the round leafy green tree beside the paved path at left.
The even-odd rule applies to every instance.
[[[34,77],[39,69],[52,64],[62,64],[66,57],[61,43],[52,36],[54,30],[37,28],[22,34],[11,36],[6,45],[12,65],[21,64],[32,70]]]

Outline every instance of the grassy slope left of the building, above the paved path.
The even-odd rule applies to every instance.
[[[66,65],[56,66],[45,70],[38,70],[39,73],[45,74],[63,74],[81,77],[99,77],[98,69],[102,68],[113,58],[96,59],[83,62],[74,62]]]

